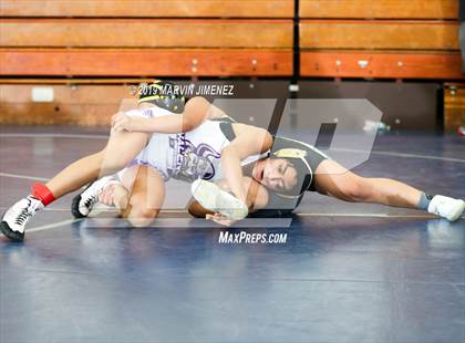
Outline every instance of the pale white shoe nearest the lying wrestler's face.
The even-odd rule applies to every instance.
[[[213,183],[203,179],[195,180],[190,190],[204,208],[219,212],[229,219],[240,220],[249,212],[246,204]]]

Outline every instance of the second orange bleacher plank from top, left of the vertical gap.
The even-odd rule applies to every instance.
[[[292,21],[8,19],[0,46],[291,48]]]

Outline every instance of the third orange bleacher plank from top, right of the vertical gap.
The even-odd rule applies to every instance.
[[[301,75],[314,77],[465,79],[459,53],[301,53]]]

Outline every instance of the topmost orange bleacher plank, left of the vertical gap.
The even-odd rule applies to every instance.
[[[292,18],[293,0],[2,0],[2,17]]]

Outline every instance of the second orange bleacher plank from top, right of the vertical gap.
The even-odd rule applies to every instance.
[[[304,20],[300,44],[308,49],[459,50],[458,23]]]

